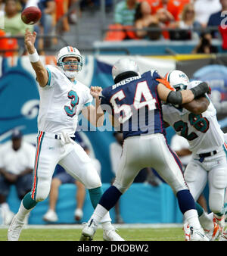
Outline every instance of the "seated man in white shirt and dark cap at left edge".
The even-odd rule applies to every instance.
[[[4,212],[5,225],[9,225],[14,217],[7,203],[10,187],[16,186],[20,200],[31,190],[35,155],[35,147],[23,141],[19,130],[14,130],[11,141],[1,146],[0,205]]]

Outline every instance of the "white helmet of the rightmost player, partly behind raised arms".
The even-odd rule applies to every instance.
[[[189,84],[188,76],[180,70],[173,70],[169,73],[166,73],[165,78],[170,83],[170,85],[176,89],[176,91],[187,89]]]

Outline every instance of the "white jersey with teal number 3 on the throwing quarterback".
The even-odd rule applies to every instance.
[[[48,83],[45,87],[39,86],[38,129],[48,133],[65,130],[73,136],[82,108],[92,104],[90,90],[77,80],[71,82],[60,68],[45,67]]]

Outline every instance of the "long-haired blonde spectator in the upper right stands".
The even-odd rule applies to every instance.
[[[194,5],[185,5],[182,11],[181,20],[177,21],[173,25],[170,25],[169,27],[182,29],[181,31],[170,32],[170,39],[198,39],[198,34],[200,31],[194,31],[194,29],[201,28],[201,24],[194,21]]]

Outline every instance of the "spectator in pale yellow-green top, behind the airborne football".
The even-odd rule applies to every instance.
[[[21,20],[20,10],[20,3],[17,0],[5,1],[5,33],[8,36],[23,36],[27,28],[33,31],[32,25],[26,25]],[[20,47],[24,47],[23,39],[17,39],[17,42]]]

